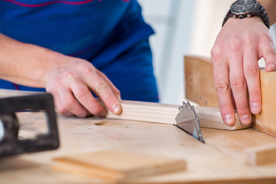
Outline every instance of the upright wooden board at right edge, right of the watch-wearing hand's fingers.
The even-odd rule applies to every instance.
[[[253,119],[252,127],[276,137],[276,72],[260,71],[262,112]]]

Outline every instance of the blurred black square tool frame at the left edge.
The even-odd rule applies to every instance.
[[[15,112],[22,110],[40,111],[47,114],[46,134],[38,134],[33,139],[18,139],[18,122]],[[53,97],[38,94],[0,99],[0,157],[52,150],[59,147],[58,130]]]

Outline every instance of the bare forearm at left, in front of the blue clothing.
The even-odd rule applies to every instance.
[[[45,87],[44,75],[59,53],[0,34],[0,78],[32,87]]]

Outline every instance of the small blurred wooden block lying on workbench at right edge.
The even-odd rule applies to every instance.
[[[276,144],[248,148],[245,153],[245,162],[249,165],[267,165],[276,163]]]

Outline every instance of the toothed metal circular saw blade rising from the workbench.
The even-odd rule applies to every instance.
[[[200,131],[199,119],[194,106],[190,105],[189,101],[187,103],[182,102],[182,104],[176,116],[176,126],[204,143],[202,132]]]

